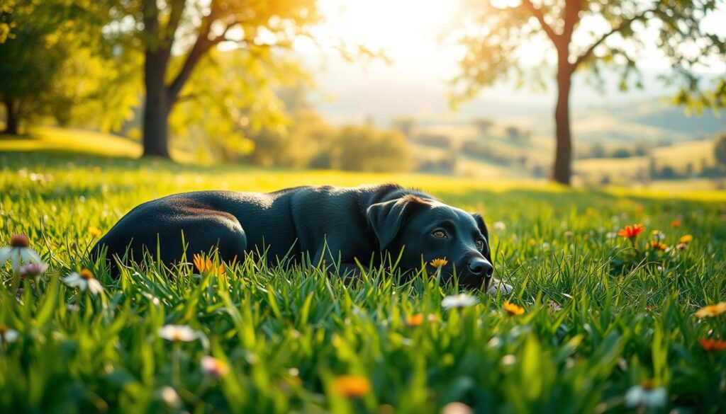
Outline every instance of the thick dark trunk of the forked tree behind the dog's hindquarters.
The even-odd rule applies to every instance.
[[[168,149],[168,117],[171,109],[164,84],[167,59],[163,51],[147,51],[144,62],[144,157],[171,158]]]

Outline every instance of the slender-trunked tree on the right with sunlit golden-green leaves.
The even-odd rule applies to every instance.
[[[515,75],[523,83],[542,83],[542,70],[534,74],[518,61],[520,46],[530,40],[544,40],[556,56],[555,80],[558,94],[555,106],[555,165],[552,177],[569,184],[571,178],[572,139],[570,131],[570,95],[576,70],[590,69],[596,77],[605,65],[621,70],[621,88],[639,86],[636,65],[643,34],[658,34],[656,46],[669,57],[674,68],[670,81],[682,88],[679,104],[726,104],[726,82],[719,81],[714,92],[706,94],[701,79],[694,73],[706,57],[722,56],[726,41],[706,33],[703,16],[719,7],[722,1],[583,1],[532,0],[486,1],[469,13],[471,30],[464,30],[461,43],[468,53],[460,62],[461,73],[454,80],[456,98],[471,99],[481,88]],[[597,30],[598,27],[606,27]],[[529,75],[533,78],[527,79]],[[697,108],[698,109],[698,108]]]

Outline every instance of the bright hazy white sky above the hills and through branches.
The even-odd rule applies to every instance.
[[[533,93],[515,90],[511,85],[500,84],[488,88],[471,104],[459,112],[450,112],[446,94],[450,91],[447,81],[458,72],[461,46],[448,35],[465,18],[464,2],[468,0],[319,0],[319,9],[325,22],[315,29],[317,38],[340,39],[347,44],[363,44],[373,50],[382,49],[389,63],[344,62],[334,52],[320,51],[305,42],[297,45],[306,65],[315,73],[317,84],[325,94],[317,108],[335,123],[359,122],[374,117],[386,123],[392,116],[412,115],[421,118],[456,119],[481,112],[481,105],[497,109],[499,105],[532,107],[547,110],[553,104],[553,91]],[[495,3],[507,4],[497,0]],[[709,30],[726,33],[722,23],[726,10],[704,21]],[[588,27],[607,30],[605,22],[583,22]],[[649,36],[654,37],[655,33]],[[547,41],[527,44],[519,53],[525,65],[535,65],[547,58]],[[646,44],[653,44],[645,39]],[[552,56],[549,56],[552,62]],[[658,49],[647,47],[643,51],[640,67],[655,78],[669,65]],[[723,73],[726,67],[711,68]],[[584,79],[576,83],[584,83]],[[646,77],[648,78],[648,76]],[[646,79],[647,80],[647,79]],[[614,80],[613,80],[614,83]],[[614,88],[610,88],[614,89]],[[378,91],[378,93],[375,93]],[[621,94],[607,91],[603,96],[591,88],[576,88],[574,107],[587,107],[621,99],[646,99],[662,94],[660,86],[646,82],[645,91]]]

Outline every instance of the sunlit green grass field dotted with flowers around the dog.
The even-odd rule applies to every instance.
[[[726,339],[726,313],[695,315],[726,300],[722,192],[197,167],[11,144],[0,141],[0,246],[25,233],[50,266],[37,283],[0,268],[0,412],[726,410],[726,350],[701,344]],[[469,291],[476,305],[444,309],[456,286],[381,270],[345,286],[250,259],[224,274],[150,266],[114,281],[86,259],[97,229],[165,194],[383,181],[483,212],[513,293]],[[646,228],[635,244],[613,236],[634,223]],[[654,230],[665,251],[645,248]],[[63,283],[84,268],[101,294]],[[191,340],[164,339],[166,325],[189,326],[176,337]]]

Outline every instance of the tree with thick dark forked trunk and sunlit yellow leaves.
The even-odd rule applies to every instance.
[[[169,115],[178,102],[193,98],[181,92],[212,49],[228,42],[252,56],[270,57],[270,49],[290,48],[319,19],[315,0],[136,0],[112,7],[112,15],[119,25],[132,17],[139,28],[144,156],[164,158]]]

